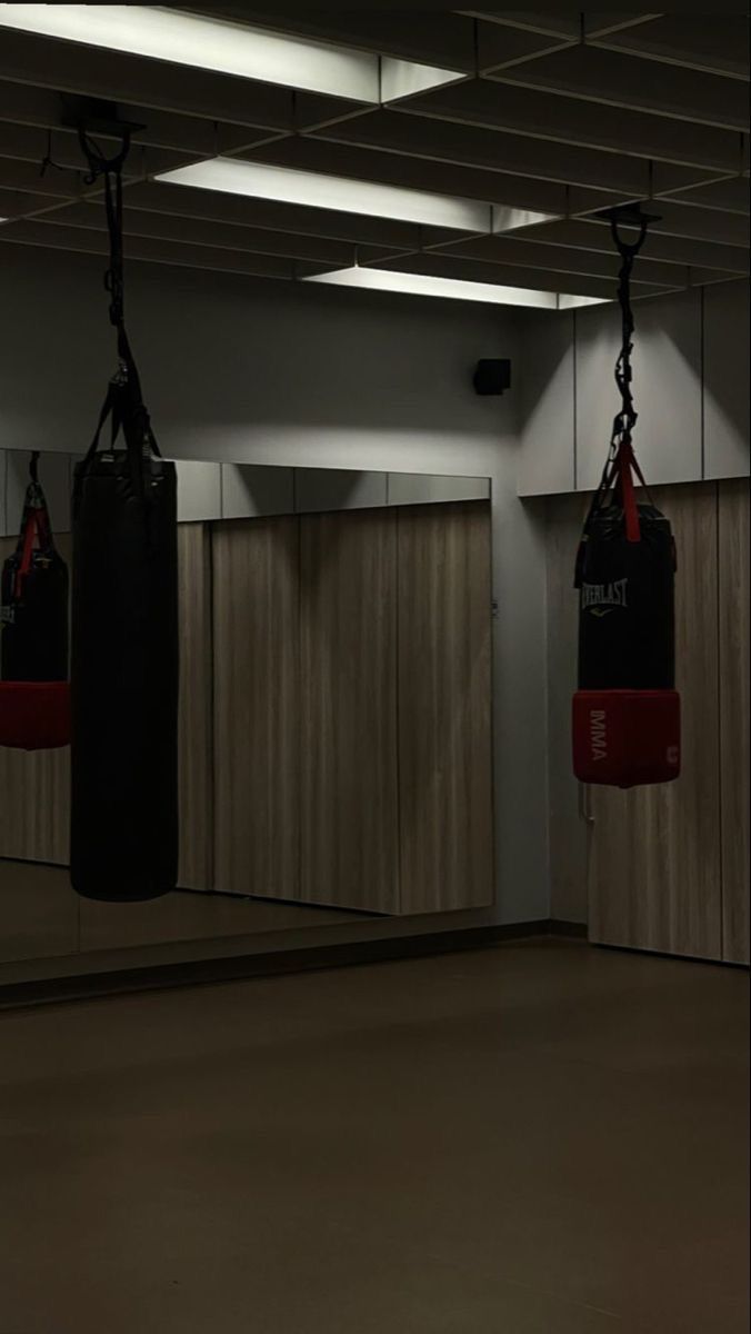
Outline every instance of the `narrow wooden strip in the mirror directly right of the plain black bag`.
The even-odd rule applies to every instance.
[[[212,883],[211,562],[203,523],[177,528],[180,598],[180,867],[177,883],[208,890]]]

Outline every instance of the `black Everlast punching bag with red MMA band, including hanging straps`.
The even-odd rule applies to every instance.
[[[623,407],[614,423],[611,454],[592,499],[579,546],[579,690],[574,696],[574,771],[584,783],[634,787],[667,783],[680,771],[680,699],[675,691],[675,542],[670,522],[636,500],[644,486],[631,431],[630,273],[636,244],[612,231],[624,264],[620,273],[623,350],[616,382]]]

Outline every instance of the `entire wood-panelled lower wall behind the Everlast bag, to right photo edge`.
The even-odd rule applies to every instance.
[[[682,776],[592,787],[590,939],[748,962],[748,487],[666,488]]]

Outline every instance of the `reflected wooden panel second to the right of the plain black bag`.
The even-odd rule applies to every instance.
[[[299,898],[299,520],[212,530],[213,887]]]

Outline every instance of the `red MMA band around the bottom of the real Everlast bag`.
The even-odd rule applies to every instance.
[[[676,690],[579,690],[572,742],[580,783],[670,783],[680,772],[680,696]]]

